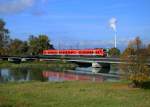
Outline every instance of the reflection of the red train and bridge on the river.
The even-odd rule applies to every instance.
[[[84,69],[84,71],[82,71]],[[93,71],[91,72],[90,69]],[[76,72],[75,72],[76,71]],[[101,69],[97,68],[76,68],[76,70],[70,70],[69,72],[54,72],[44,71],[43,76],[48,78],[48,81],[116,81],[119,79],[117,75],[109,73],[97,73]],[[86,73],[85,73],[86,72]]]

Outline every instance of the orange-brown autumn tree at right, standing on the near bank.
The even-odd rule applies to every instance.
[[[121,69],[134,86],[142,87],[143,83],[150,80],[150,69],[147,65],[148,52],[139,37],[129,42],[121,59],[126,61],[126,64],[121,64]]]

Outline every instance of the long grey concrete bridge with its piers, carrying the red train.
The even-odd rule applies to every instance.
[[[33,61],[33,60],[39,60],[39,61],[58,61],[62,60],[65,62],[72,62],[77,63],[78,65],[87,65],[92,67],[110,67],[110,64],[128,64],[127,61],[122,60],[117,57],[101,57],[101,58],[95,58],[95,57],[75,57],[75,56],[47,56],[47,57],[41,57],[41,56],[16,56],[16,57],[0,57],[1,60],[8,60],[10,62],[25,62],[25,61]],[[150,60],[147,62],[148,65],[150,65]]]

